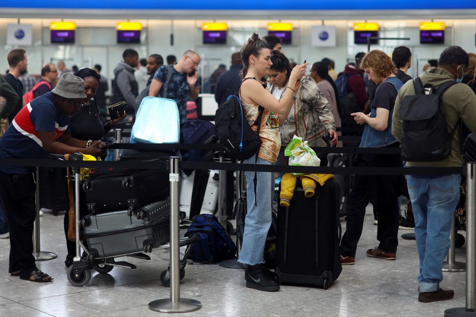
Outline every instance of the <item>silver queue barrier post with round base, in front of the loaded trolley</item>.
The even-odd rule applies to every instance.
[[[180,298],[180,158],[169,158],[170,181],[170,299],[159,299],[149,303],[149,309],[162,313],[186,313],[202,308],[197,300]]]

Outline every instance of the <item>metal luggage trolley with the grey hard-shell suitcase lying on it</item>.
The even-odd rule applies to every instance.
[[[50,154],[50,157],[80,162],[83,155],[81,153]],[[79,183],[87,179],[88,172],[90,170],[86,169],[86,173],[80,173],[79,168],[74,169],[72,178],[76,180],[74,188],[76,202],[79,201]],[[68,281],[73,286],[84,286],[91,279],[91,268],[94,268],[100,274],[109,273],[114,266],[135,269],[136,265],[126,261],[115,261],[115,258],[131,256],[150,260],[150,256],[146,253],[151,253],[153,250],[169,249],[169,215],[169,197],[132,212],[131,210],[113,211],[99,215],[86,215],[82,219],[79,216],[79,203],[76,203],[76,256],[68,268]],[[115,228],[115,221],[112,221],[112,219],[121,219],[121,224],[127,226],[127,228]],[[107,226],[109,232],[99,233],[97,228],[100,226]],[[83,232],[80,232],[80,228],[83,229]],[[131,243],[127,246],[114,245],[123,238],[125,241],[129,238],[128,241]],[[87,246],[84,241],[87,241]],[[196,241],[197,237],[195,236],[180,239],[179,246],[187,247],[180,261],[180,279],[185,277],[187,258]],[[140,243],[142,244],[141,247]],[[81,248],[84,252],[79,255],[81,254]],[[166,270],[161,272],[160,282],[163,286],[170,286],[170,264]]]

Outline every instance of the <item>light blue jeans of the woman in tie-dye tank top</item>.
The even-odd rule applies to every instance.
[[[255,157],[244,160],[245,164],[255,164]],[[272,165],[267,160],[258,158],[260,165]],[[248,213],[245,218],[245,231],[238,261],[255,265],[264,263],[266,237],[271,227],[272,197],[274,194],[274,177],[270,172],[257,172],[256,206],[253,179],[255,172],[245,172],[246,202]]]

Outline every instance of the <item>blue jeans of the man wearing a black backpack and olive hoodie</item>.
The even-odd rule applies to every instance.
[[[434,178],[407,175],[420,259],[420,293],[437,291],[443,280],[441,268],[450,248],[453,217],[460,199],[460,182],[460,175]]]

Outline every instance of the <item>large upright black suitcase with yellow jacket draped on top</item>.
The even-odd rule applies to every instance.
[[[296,187],[289,207],[278,207],[276,273],[281,283],[327,289],[339,277],[339,184],[328,180],[305,197]]]

